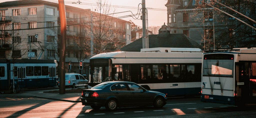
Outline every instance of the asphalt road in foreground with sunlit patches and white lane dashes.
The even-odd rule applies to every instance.
[[[200,102],[200,97],[169,98],[162,109],[152,107],[118,108],[109,112],[104,107],[93,110],[81,103],[63,102],[40,98],[0,98],[0,118],[46,117],[255,117],[256,107],[239,108],[232,105]]]

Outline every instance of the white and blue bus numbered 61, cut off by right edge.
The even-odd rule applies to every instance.
[[[244,106],[255,104],[256,49],[203,53],[201,102]]]

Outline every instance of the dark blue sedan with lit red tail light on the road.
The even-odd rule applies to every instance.
[[[118,107],[154,106],[162,108],[167,103],[165,94],[148,91],[133,82],[103,82],[91,89],[85,89],[81,97],[82,105],[90,105],[98,110],[102,106],[109,111]]]

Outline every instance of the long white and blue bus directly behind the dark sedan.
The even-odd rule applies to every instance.
[[[200,95],[201,62],[198,48],[101,53],[90,58],[89,76],[94,82],[130,81],[166,95]]]

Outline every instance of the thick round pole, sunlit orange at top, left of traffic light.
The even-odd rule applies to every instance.
[[[66,36],[67,36],[67,23],[66,23],[66,11],[64,0],[59,1],[60,9],[60,69],[59,69],[59,82],[60,82],[60,94],[65,94],[65,59],[66,59]]]

